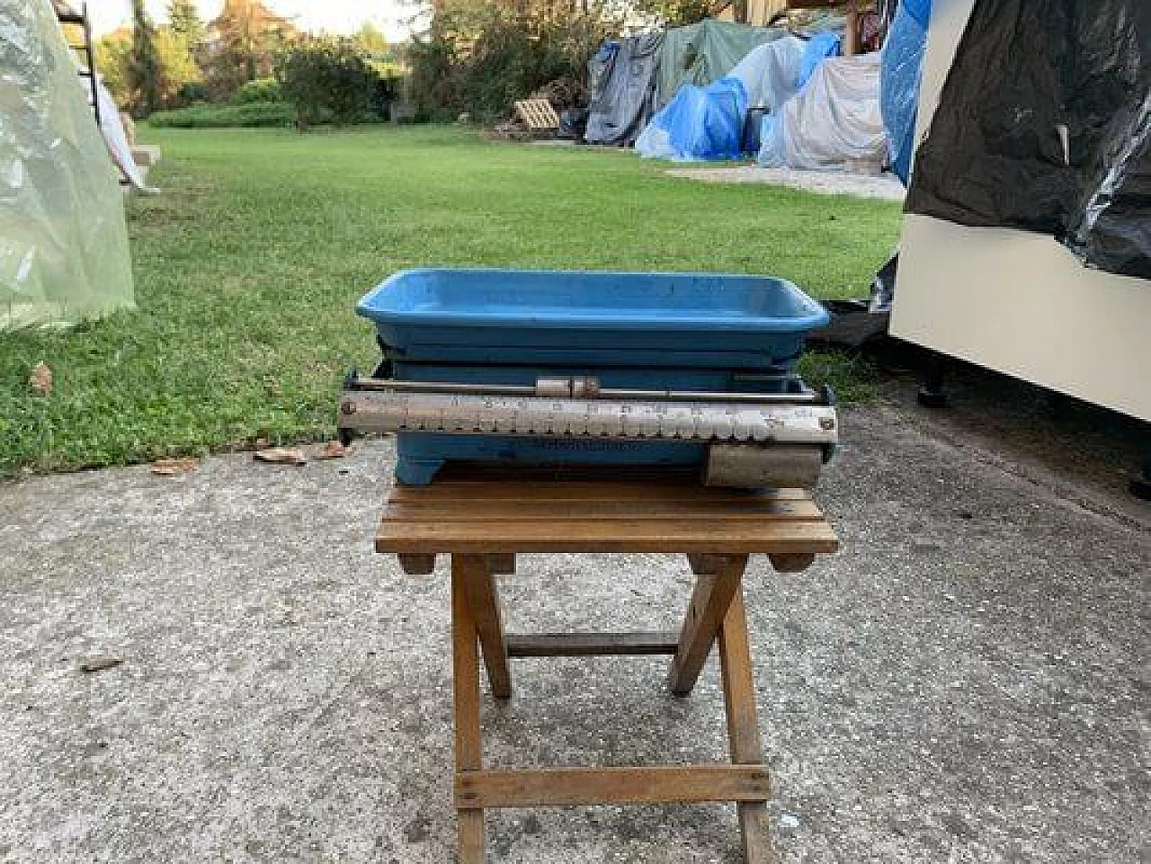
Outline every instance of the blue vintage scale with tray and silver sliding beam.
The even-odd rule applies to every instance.
[[[830,392],[795,374],[828,313],[785,280],[417,269],[357,312],[383,361],[346,381],[340,428],[395,433],[403,483],[481,462],[809,488],[838,441]]]

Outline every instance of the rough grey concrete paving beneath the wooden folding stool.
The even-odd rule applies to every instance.
[[[906,410],[845,426],[843,552],[746,581],[783,861],[1146,861],[1146,506]],[[0,487],[0,861],[451,861],[448,580],[371,551],[391,458]],[[691,590],[658,556],[503,580],[519,630],[674,628]],[[486,756],[723,760],[716,665],[677,699],[662,662],[516,662]],[[488,825],[500,862],[739,859],[730,805]]]

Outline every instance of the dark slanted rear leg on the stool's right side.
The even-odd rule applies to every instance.
[[[702,559],[692,559],[693,567],[702,568]],[[746,566],[746,555],[721,557],[718,560],[709,558],[707,568],[714,567],[714,572],[698,578],[679,632],[679,648],[671,662],[669,683],[677,696],[686,696],[695,687],[711,653],[711,644],[719,635],[727,606],[739,590]]]

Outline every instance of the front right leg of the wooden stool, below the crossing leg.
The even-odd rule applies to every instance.
[[[763,752],[755,716],[755,683],[742,587],[732,596],[719,632],[719,666],[723,671],[731,760],[737,765],[759,765],[763,762]],[[744,838],[744,859],[747,864],[775,864],[778,858],[771,844],[767,803],[740,802],[735,806],[739,808],[739,829]]]

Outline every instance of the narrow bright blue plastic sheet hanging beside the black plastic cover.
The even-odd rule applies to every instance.
[[[891,169],[905,186],[915,153],[915,117],[930,20],[931,0],[904,0],[883,46],[879,108],[891,140]]]

